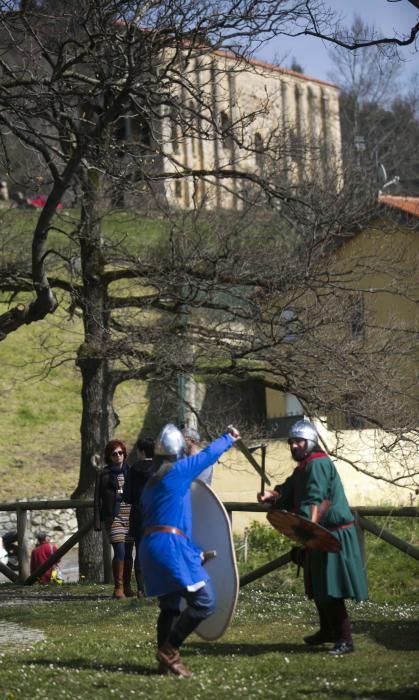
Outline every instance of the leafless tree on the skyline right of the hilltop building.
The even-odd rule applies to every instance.
[[[351,34],[358,40],[377,35],[374,26],[355,17]],[[375,47],[348,52],[330,50],[335,70],[330,77],[341,88],[340,116],[344,159],[358,158],[372,183],[390,192],[417,195],[419,161],[418,94],[401,94],[402,64]]]

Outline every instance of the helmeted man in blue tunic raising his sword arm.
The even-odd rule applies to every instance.
[[[169,423],[156,442],[158,468],[141,498],[144,535],[140,560],[146,594],[159,598],[156,658],[161,673],[192,675],[179,648],[215,610],[210,577],[202,566],[203,552],[192,540],[190,487],[239,438],[238,430],[229,427],[204,450],[188,455],[182,433]],[[180,613],[182,598],[186,608]]]

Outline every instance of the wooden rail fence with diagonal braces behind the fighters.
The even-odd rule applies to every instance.
[[[267,513],[269,506],[259,504],[259,503],[240,503],[240,502],[227,502],[224,503],[227,512],[232,520],[233,512],[246,512],[246,513]],[[53,564],[55,564],[59,559],[61,559],[64,554],[66,554],[72,547],[74,547],[78,542],[93,528],[93,512],[92,518],[86,522],[86,524],[80,530],[77,530],[71,537],[58,548],[58,550],[49,557],[49,559],[39,566],[36,571],[30,572],[30,551],[26,537],[26,526],[27,526],[27,513],[33,510],[65,510],[68,508],[90,508],[93,511],[93,500],[57,500],[57,501],[17,501],[15,503],[0,503],[0,511],[15,511],[16,512],[16,523],[17,523],[17,538],[18,538],[18,560],[19,560],[19,573],[16,573],[10,567],[2,564],[0,562],[0,572],[4,574],[10,581],[14,583],[20,583],[25,585],[31,585],[39,579],[45,571],[47,571]],[[361,538],[363,538],[363,532],[371,532],[376,537],[384,540],[388,544],[401,550],[408,556],[419,560],[419,548],[412,545],[410,542],[400,539],[396,535],[392,534],[385,528],[380,527],[374,522],[368,520],[366,516],[391,516],[398,518],[417,518],[419,516],[419,508],[405,507],[405,508],[381,508],[373,506],[359,506],[353,507],[352,512],[356,519],[357,525],[359,527],[359,532]],[[111,580],[111,549],[109,542],[105,533],[103,533],[102,538],[103,545],[103,561],[104,561],[104,579],[105,582]],[[362,546],[362,543],[361,543]],[[271,562],[268,562],[264,566],[251,571],[250,573],[242,576],[240,579],[240,586],[245,586],[252,581],[255,581],[262,576],[284,566],[291,560],[291,554],[288,552]]]

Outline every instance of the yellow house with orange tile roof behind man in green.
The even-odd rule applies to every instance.
[[[357,316],[356,328],[352,328],[352,332],[362,330],[364,316],[370,318],[370,325],[374,325],[375,321],[390,328],[396,319],[396,325],[408,329],[414,339],[419,328],[419,282],[415,274],[419,262],[419,199],[382,195],[380,201],[383,205],[381,216],[368,228],[349,237],[337,249],[335,265],[336,268],[343,265],[345,269],[353,270],[359,260],[375,262],[374,267],[368,264],[365,273],[357,279],[362,314]],[[399,275],[398,270],[403,274]],[[392,293],[393,287],[399,277],[405,287],[399,289],[400,295],[395,295]],[[411,411],[414,412],[418,397],[419,360],[419,349],[414,340],[411,347],[404,346],[404,354],[404,365],[397,366],[399,387],[406,402],[405,410],[409,409],[410,397]],[[205,391],[204,385],[195,385],[193,380],[189,380],[186,398],[199,412],[205,407]],[[253,391],[248,396],[246,406],[249,410],[254,409],[256,402],[257,395]],[[268,437],[264,439],[266,472],[274,486],[282,483],[295,467],[286,436],[290,425],[304,416],[304,409],[292,394],[261,386],[260,403],[263,402],[261,411],[265,411],[268,427]],[[406,415],[410,414],[409,411]],[[341,414],[315,420],[323,448],[335,455],[333,459],[350,505],[417,505],[417,430],[412,431],[411,439],[406,434],[404,440],[393,444],[395,436],[392,433],[351,419],[351,415]],[[189,417],[191,420],[193,417]],[[254,456],[260,463],[260,450]],[[256,503],[261,479],[243,455],[234,449],[224,455],[220,462],[214,470],[213,487],[222,501]],[[252,520],[264,521],[265,515],[236,512],[233,514],[233,527],[240,531]]]

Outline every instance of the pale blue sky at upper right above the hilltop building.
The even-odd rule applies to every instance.
[[[354,15],[359,15],[365,23],[374,25],[383,33],[403,34],[419,21],[419,10],[408,0],[388,2],[387,0],[328,0],[327,5],[341,16],[345,26],[352,24]],[[332,80],[333,60],[329,57],[329,42],[313,37],[278,37],[271,40],[257,57],[290,67],[293,59],[303,68],[306,75],[321,80]],[[403,59],[401,80],[404,87],[419,73],[419,42],[417,47],[404,47],[400,50]]]

